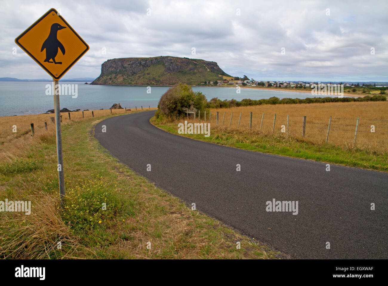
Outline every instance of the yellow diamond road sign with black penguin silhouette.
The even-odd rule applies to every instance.
[[[33,23],[15,42],[56,80],[89,49],[55,9]]]

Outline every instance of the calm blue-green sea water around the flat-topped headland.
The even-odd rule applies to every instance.
[[[120,103],[123,108],[157,107],[160,97],[167,91],[168,86],[151,86],[151,93],[147,93],[146,86],[106,86],[89,85],[83,82],[61,82],[60,84],[78,84],[77,97],[60,95],[61,109],[66,107],[75,109],[109,109],[114,103]],[[0,82],[0,116],[40,114],[54,109],[54,98],[46,95],[46,85],[52,82]],[[310,93],[290,91],[275,91],[262,89],[221,87],[193,87],[194,91],[202,91],[208,100],[218,97],[221,100],[244,98],[262,99],[278,98],[307,98],[313,97]]]

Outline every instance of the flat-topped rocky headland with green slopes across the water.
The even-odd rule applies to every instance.
[[[173,85],[198,84],[223,79],[226,74],[214,61],[158,56],[119,58],[101,65],[101,74],[91,84]]]

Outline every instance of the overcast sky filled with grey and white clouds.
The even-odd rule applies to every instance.
[[[388,81],[388,1],[33,2],[0,0],[0,77],[50,78],[12,48],[55,8],[90,46],[64,79],[98,77],[111,58],[179,56],[256,80]]]

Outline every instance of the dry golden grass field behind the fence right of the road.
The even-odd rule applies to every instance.
[[[266,134],[274,133],[293,138],[302,137],[303,116],[306,116],[304,140],[314,144],[322,144],[326,141],[331,116],[328,142],[343,147],[354,147],[356,123],[359,118],[355,145],[379,153],[388,151],[388,102],[277,104],[211,109],[211,128],[229,128],[230,126],[232,130],[249,129],[250,112],[252,112],[252,131],[261,130]],[[201,120],[204,119],[203,115],[201,114]],[[209,122],[209,114],[207,114],[206,121]],[[281,132],[282,125],[284,125],[283,131],[285,132]],[[371,132],[372,125],[374,125],[374,132]]]

